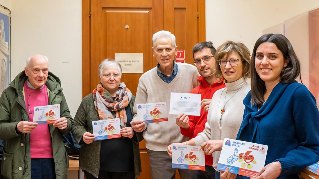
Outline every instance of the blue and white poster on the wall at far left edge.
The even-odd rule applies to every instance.
[[[0,13],[0,96],[9,86],[9,16]]]

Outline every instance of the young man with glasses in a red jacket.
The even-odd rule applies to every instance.
[[[190,93],[201,94],[201,115],[187,116],[180,114],[176,118],[176,124],[180,126],[181,133],[189,137],[189,140],[196,137],[199,132],[203,132],[207,122],[207,112],[211,104],[211,98],[215,91],[224,88],[223,79],[215,77],[215,52],[212,42],[199,42],[193,47],[194,64],[201,76],[197,78],[199,86],[192,89]],[[215,169],[212,167],[213,158],[211,155],[205,155],[206,171],[192,170],[192,179],[215,179]]]

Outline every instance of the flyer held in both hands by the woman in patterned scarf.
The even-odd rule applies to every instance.
[[[92,121],[94,140],[104,140],[122,137],[120,134],[120,119]]]

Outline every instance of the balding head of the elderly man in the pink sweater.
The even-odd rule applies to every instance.
[[[40,89],[46,82],[49,73],[48,58],[44,55],[33,55],[26,60],[24,68],[30,84],[35,89]]]

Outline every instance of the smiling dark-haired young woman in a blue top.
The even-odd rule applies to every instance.
[[[237,140],[268,145],[268,152],[265,167],[251,178],[299,179],[305,167],[319,161],[319,112],[315,97],[295,81],[300,68],[285,36],[265,34],[256,41],[251,91],[243,100]],[[220,176],[235,178],[236,174],[227,169]]]

